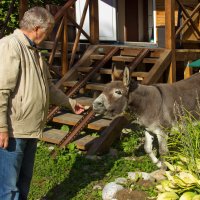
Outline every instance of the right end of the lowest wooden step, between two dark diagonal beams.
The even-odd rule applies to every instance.
[[[86,135],[85,137],[82,137],[78,140],[75,140],[74,143],[76,144],[76,147],[78,149],[81,149],[83,151],[86,151],[90,148],[92,143],[96,140],[97,137]]]

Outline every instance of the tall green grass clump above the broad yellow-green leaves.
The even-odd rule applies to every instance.
[[[188,112],[180,117],[177,127],[171,131],[168,143],[170,155],[167,160],[176,164],[177,161],[184,161],[187,168],[200,178],[200,122]],[[185,163],[184,163],[185,164]]]

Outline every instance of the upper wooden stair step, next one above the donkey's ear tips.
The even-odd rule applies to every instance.
[[[90,56],[91,60],[101,60],[104,57],[104,55],[100,55],[100,54],[93,54]],[[132,62],[133,59],[135,58],[135,56],[113,56],[112,57],[112,61],[115,62]],[[156,63],[157,62],[157,58],[144,58],[143,59],[143,63]]]

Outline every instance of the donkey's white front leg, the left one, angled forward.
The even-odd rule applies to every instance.
[[[152,162],[160,168],[161,162],[158,160],[158,158],[156,158],[156,156],[153,153],[153,139],[154,137],[148,131],[145,131],[144,150],[146,153],[149,154],[149,157],[151,158]]]

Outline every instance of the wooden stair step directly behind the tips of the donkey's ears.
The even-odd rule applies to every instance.
[[[92,69],[92,67],[79,67],[78,71],[79,72],[83,72],[83,73],[87,73]],[[117,70],[119,73],[122,73],[123,70]],[[101,68],[100,69],[100,74],[112,74],[112,70],[111,69],[105,69],[105,68]],[[132,77],[141,77],[141,78],[145,78],[148,76],[148,72],[132,72],[131,74]]]

